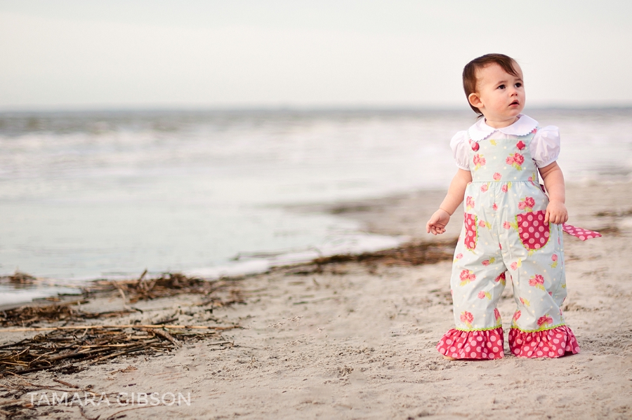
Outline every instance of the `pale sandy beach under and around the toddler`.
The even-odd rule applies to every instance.
[[[333,212],[419,243],[438,240],[425,224],[442,196],[419,191],[300,211]],[[630,419],[632,184],[570,185],[567,207],[570,223],[603,232],[587,242],[565,236],[563,309],[578,355],[515,358],[505,344],[501,360],[444,360],[435,346],[452,326],[449,260],[305,264],[235,279],[243,303],[213,311],[198,294],[133,305],[120,294],[90,297],[81,310],[140,311],[85,324],[239,328],[159,357],[121,356],[72,374],[4,374],[0,410],[12,419]],[[456,238],[460,227],[454,217],[440,240]],[[508,284],[499,304],[506,331],[514,306]],[[0,345],[35,334],[4,332]],[[50,402],[62,391],[80,393],[81,405],[41,397]],[[97,397],[86,402],[84,391]],[[117,402],[131,393],[133,404]],[[145,393],[157,393],[159,403],[143,405]]]

